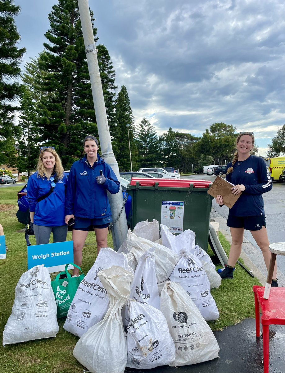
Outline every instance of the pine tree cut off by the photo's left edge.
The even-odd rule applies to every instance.
[[[0,164],[9,162],[15,154],[15,138],[20,135],[19,126],[14,125],[17,106],[11,104],[22,93],[22,85],[15,80],[20,76],[19,62],[25,48],[17,48],[20,41],[14,17],[20,12],[12,0],[0,1]],[[4,152],[4,153],[3,153]]]

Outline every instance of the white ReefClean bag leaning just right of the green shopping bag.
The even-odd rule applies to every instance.
[[[118,254],[110,247],[101,248],[95,263],[80,282],[69,307],[63,325],[67,332],[81,337],[89,327],[103,319],[109,307],[109,298],[98,272],[111,266],[120,266],[132,272],[126,254]]]

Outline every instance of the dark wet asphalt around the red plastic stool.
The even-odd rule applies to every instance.
[[[260,333],[262,326],[260,326]],[[256,338],[255,319],[246,319],[214,332],[219,357],[204,363],[182,367],[162,366],[154,369],[130,369],[125,373],[263,373],[262,333]],[[285,326],[269,326],[269,373],[285,372]]]

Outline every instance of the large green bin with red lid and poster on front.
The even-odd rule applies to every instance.
[[[212,197],[207,180],[132,178],[131,229],[141,221],[156,219],[174,234],[186,229],[196,233],[196,244],[208,249]]]

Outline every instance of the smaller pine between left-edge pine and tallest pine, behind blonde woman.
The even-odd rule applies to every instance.
[[[22,137],[18,141],[17,167],[19,172],[28,170],[30,176],[31,170],[34,170],[37,163],[39,147],[36,145],[38,142],[37,112],[32,94],[27,87],[20,105],[19,125],[22,128]]]

